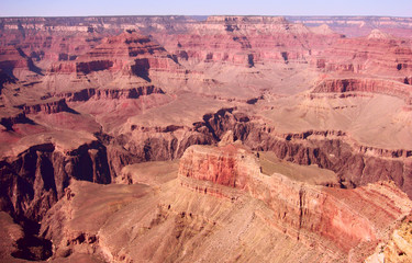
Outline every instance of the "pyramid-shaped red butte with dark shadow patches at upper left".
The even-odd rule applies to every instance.
[[[66,78],[71,78],[71,83],[65,90],[79,84],[85,88],[101,85],[99,79],[105,80],[105,87],[132,89],[135,84],[144,85],[159,79],[156,71],[185,75],[185,70],[162,46],[136,32],[127,31],[101,42],[74,60],[53,62],[49,75],[56,78],[70,76]],[[94,84],[90,85],[90,81]],[[44,84],[54,82],[55,79],[49,79]]]

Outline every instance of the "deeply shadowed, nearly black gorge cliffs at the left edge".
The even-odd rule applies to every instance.
[[[53,144],[32,146],[0,163],[1,210],[38,221],[64,195],[71,178],[110,183],[105,148],[98,141],[68,151]]]

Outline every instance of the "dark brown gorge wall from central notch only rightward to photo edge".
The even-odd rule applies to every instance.
[[[342,132],[278,134],[275,127],[233,108],[207,115],[204,121],[199,127],[207,127],[216,140],[233,130],[234,139],[242,140],[250,149],[270,150],[280,159],[333,170],[344,187],[389,179],[410,196],[412,194],[412,163],[407,159],[411,155],[408,149],[361,146]]]

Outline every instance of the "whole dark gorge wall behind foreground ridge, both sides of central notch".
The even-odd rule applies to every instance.
[[[412,193],[411,150],[365,146],[342,130],[279,134],[261,119],[235,108],[207,114],[203,122],[192,127],[132,125],[130,128],[130,133],[108,142],[113,174],[120,174],[124,165],[134,162],[180,158],[189,146],[215,145],[231,132],[233,140],[241,140],[253,150],[272,151],[287,161],[334,171],[342,187],[392,180],[405,193]]]

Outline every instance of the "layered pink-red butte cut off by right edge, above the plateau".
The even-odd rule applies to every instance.
[[[370,92],[411,101],[410,44],[374,30],[368,37],[339,39],[312,59],[325,72],[314,92]]]

